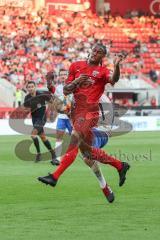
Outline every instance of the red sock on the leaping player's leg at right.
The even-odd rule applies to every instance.
[[[115,167],[118,171],[122,169],[122,162],[119,159],[108,155],[102,149],[92,148],[92,159],[104,164],[109,164]]]

